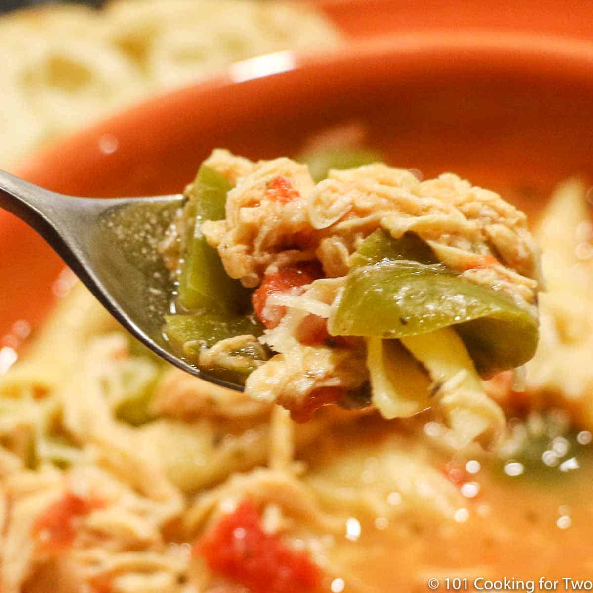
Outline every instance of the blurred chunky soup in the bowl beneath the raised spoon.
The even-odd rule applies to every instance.
[[[162,366],[74,285],[0,377],[2,591],[471,591],[505,577],[564,591],[593,575],[586,186],[551,203],[493,189],[528,213],[551,272],[527,390],[510,374],[487,384],[508,419],[498,447],[458,447],[432,412],[294,423]],[[260,527],[237,515],[246,500]],[[228,545],[206,553],[229,517]]]

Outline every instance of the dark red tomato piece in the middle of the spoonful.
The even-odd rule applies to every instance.
[[[276,327],[284,317],[286,307],[276,305],[266,307],[268,297],[275,292],[288,292],[299,286],[310,284],[313,280],[321,278],[321,275],[318,264],[311,262],[283,267],[278,272],[267,274],[257,290],[251,295],[251,302],[257,317],[268,329]]]

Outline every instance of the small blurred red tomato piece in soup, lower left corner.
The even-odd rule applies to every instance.
[[[103,503],[99,500],[82,498],[72,492],[66,492],[37,518],[33,526],[33,534],[40,548],[52,554],[68,549],[76,535],[75,519],[84,517],[102,506]]]

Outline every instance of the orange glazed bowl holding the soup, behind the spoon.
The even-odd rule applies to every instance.
[[[94,126],[18,173],[74,195],[178,192],[212,148],[291,155],[352,121],[392,164],[548,191],[570,174],[593,174],[593,44],[425,33],[321,58],[256,58]],[[42,320],[62,264],[6,212],[0,253],[1,337],[18,319]]]

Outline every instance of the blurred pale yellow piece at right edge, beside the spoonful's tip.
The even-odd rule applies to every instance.
[[[547,291],[541,295],[541,336],[528,365],[527,387],[544,401],[572,410],[593,428],[593,263],[584,181],[561,184],[537,231]]]

